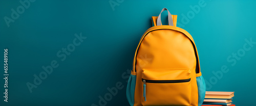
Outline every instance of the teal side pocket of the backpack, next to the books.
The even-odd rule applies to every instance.
[[[206,91],[206,86],[205,86],[204,78],[202,75],[197,77],[197,87],[198,87],[198,106],[201,106],[203,104],[205,91]]]

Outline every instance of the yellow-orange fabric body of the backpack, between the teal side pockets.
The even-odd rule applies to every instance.
[[[170,39],[172,39],[172,41],[169,41]],[[195,57],[195,55],[198,54],[197,52],[195,54],[193,44],[190,40],[192,41],[192,43],[194,43],[194,40],[189,33],[181,28],[170,25],[153,26],[143,34],[139,42],[139,46],[136,49],[133,62],[133,72],[136,72],[137,75],[134,106],[141,106],[142,104],[189,106],[198,105],[198,88],[196,81],[196,76],[198,76],[198,74],[196,74],[197,62]],[[182,44],[180,44],[180,42],[182,42]],[[171,62],[169,61],[170,59],[172,59]],[[184,68],[189,69],[189,72],[188,70],[183,70],[180,73],[173,72],[175,74],[174,76],[172,75],[172,77],[179,80],[187,78],[189,76],[190,82],[176,84],[146,83],[147,100],[143,100],[143,82],[141,80],[142,77],[152,79],[159,78],[160,80],[163,80],[165,78],[167,79],[167,77],[161,74],[161,72],[157,73],[148,70],[164,69],[162,70],[164,74],[170,74],[167,72],[166,69],[175,70]],[[198,68],[200,73],[200,65]],[[144,75],[142,73],[143,70],[146,70],[150,73]],[[175,75],[178,74],[180,76],[175,77]],[[156,75],[157,77],[154,77],[154,75]],[[160,77],[161,75],[163,77]],[[167,101],[165,97],[168,99]]]

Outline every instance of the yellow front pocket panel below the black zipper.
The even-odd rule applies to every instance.
[[[175,95],[175,96],[172,96],[172,95]],[[141,98],[144,98],[143,92],[141,94]],[[141,104],[142,105],[190,105],[191,104],[191,82],[166,83],[166,84],[146,83],[146,101],[144,99],[141,99]]]

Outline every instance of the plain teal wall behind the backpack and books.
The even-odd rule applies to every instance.
[[[200,11],[190,8],[202,3]],[[128,105],[126,81],[137,44],[151,27],[151,16],[167,8],[196,42],[207,91],[234,91],[234,104],[254,105],[256,44],[246,40],[256,42],[255,5],[255,1],[231,0],[31,1],[8,27],[4,17],[11,18],[11,9],[16,11],[22,4],[0,1],[0,60],[4,61],[4,48],[9,56],[8,102],[1,69],[0,104],[99,105],[100,97],[110,94],[107,88],[118,84],[120,89],[106,105]],[[66,59],[57,57],[80,33],[87,38]],[[249,50],[243,48],[245,43]],[[44,72],[42,66],[53,60],[57,68],[31,93],[27,83],[34,84],[33,75]],[[229,71],[223,73],[221,67]]]

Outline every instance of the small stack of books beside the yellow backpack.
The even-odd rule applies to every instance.
[[[234,104],[232,104],[233,96],[234,96],[234,92],[206,91],[202,106],[210,106],[210,105],[211,106],[222,106],[222,105],[234,106]]]

